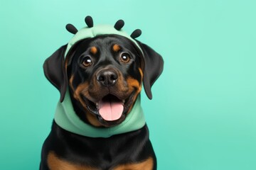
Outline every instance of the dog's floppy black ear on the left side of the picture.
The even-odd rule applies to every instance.
[[[53,86],[60,91],[60,102],[64,100],[68,85],[68,78],[65,72],[64,55],[67,45],[63,45],[43,63],[43,72]]]

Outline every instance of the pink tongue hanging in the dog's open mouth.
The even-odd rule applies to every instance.
[[[124,111],[124,106],[119,101],[100,101],[99,108],[100,115],[107,121],[118,120]]]

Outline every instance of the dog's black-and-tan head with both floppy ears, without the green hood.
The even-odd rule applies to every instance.
[[[54,52],[43,69],[60,91],[60,101],[69,89],[73,108],[85,123],[97,127],[122,123],[142,84],[146,95],[152,98],[151,86],[161,74],[164,62],[142,42],[107,34],[83,38],[68,52],[67,48],[64,45]]]

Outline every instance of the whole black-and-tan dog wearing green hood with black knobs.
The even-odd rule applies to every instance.
[[[143,84],[152,98],[151,86],[164,61],[134,39],[140,30],[123,35],[123,21],[114,30],[94,27],[90,16],[85,23],[94,35],[71,40],[43,64],[46,78],[60,91],[60,101],[43,143],[40,169],[156,169],[140,93]],[[67,30],[75,36],[82,32],[71,24]]]

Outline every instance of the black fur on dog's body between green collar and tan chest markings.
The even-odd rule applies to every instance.
[[[119,164],[141,162],[156,156],[149,140],[149,130],[144,128],[112,137],[82,137],[67,132],[53,123],[50,135],[43,145],[41,170],[48,169],[47,154],[54,151],[62,159],[75,164],[86,164],[97,169],[112,169]]]

